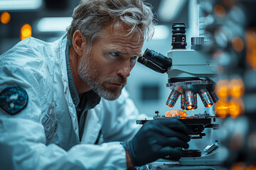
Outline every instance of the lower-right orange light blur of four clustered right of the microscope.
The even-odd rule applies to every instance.
[[[242,98],[232,98],[228,103],[228,111],[231,118],[238,118],[245,112],[245,105]]]

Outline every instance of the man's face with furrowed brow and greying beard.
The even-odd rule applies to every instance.
[[[107,100],[117,99],[127,77],[142,55],[143,36],[127,36],[127,27],[111,23],[95,38],[89,55],[82,52],[78,74],[92,90]]]

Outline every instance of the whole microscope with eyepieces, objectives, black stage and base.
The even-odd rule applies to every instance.
[[[200,96],[203,106],[206,108],[213,106],[218,101],[215,92],[216,68],[218,63],[212,60],[207,45],[204,45],[203,37],[191,38],[191,50],[186,50],[186,24],[173,23],[172,26],[172,43],[173,48],[168,52],[167,57],[154,50],[146,49],[144,55],[139,57],[138,62],[146,67],[159,73],[168,74],[168,83],[166,87],[171,89],[171,93],[166,101],[166,106],[173,108],[176,101],[181,97],[181,109],[183,111],[195,111],[198,108],[197,96]],[[198,94],[198,95],[197,95]],[[154,119],[177,118],[188,128],[191,128],[191,139],[201,139],[206,134],[203,133],[205,128],[218,129],[219,125],[215,123],[215,115],[207,112],[196,113],[192,116],[184,117],[183,115],[174,115],[166,117],[159,115],[156,111]],[[150,120],[137,120],[137,124],[144,124]],[[201,154],[197,149],[182,149],[183,156],[174,160],[166,157],[171,162],[180,165],[218,165],[220,162],[216,158],[215,152],[218,150],[219,142],[208,145]],[[157,165],[158,168],[161,166]],[[171,169],[168,162],[164,162],[161,167]],[[154,169],[154,167],[151,167]]]

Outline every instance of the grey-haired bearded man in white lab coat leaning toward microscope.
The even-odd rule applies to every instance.
[[[1,167],[129,169],[180,157],[186,126],[151,121],[137,132],[123,89],[152,26],[142,0],[81,1],[68,35],[1,55]]]

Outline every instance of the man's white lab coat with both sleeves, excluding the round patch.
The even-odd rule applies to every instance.
[[[0,108],[0,169],[126,169],[117,141],[129,140],[139,129],[137,108],[125,90],[116,101],[102,98],[88,111],[79,142],[66,42],[65,35],[55,42],[27,38],[1,55],[0,92],[21,86],[28,105],[16,115]],[[93,145],[100,130],[100,145]]]

